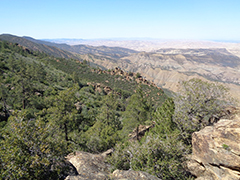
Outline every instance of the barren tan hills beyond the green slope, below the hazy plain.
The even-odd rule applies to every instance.
[[[240,58],[226,49],[161,49],[134,53],[114,61],[87,55],[81,57],[103,67],[119,66],[126,71],[140,72],[158,86],[175,92],[179,81],[191,78],[219,81],[225,83],[231,94],[239,99]]]

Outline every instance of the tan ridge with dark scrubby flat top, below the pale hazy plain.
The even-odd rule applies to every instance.
[[[160,68],[240,85],[240,58],[225,49],[163,49],[157,53],[138,53],[123,59],[129,60],[131,66],[138,69]]]

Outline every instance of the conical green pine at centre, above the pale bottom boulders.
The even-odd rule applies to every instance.
[[[86,134],[88,135],[87,146],[92,152],[102,152],[114,147],[120,140],[119,130],[122,124],[119,120],[119,102],[114,94],[107,95],[103,101],[103,106],[99,110],[96,123]]]

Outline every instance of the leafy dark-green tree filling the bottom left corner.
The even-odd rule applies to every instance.
[[[64,142],[56,127],[22,110],[9,118],[0,140],[1,179],[64,179]]]

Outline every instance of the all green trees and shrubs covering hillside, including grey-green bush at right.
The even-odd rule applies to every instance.
[[[96,73],[86,61],[5,41],[0,41],[0,71],[2,179],[64,179],[70,171],[68,153],[109,148],[115,149],[108,159],[113,170],[191,179],[184,166],[191,133],[210,125],[213,117],[217,121],[229,103],[227,89],[217,84],[195,79],[170,98],[159,88]],[[198,90],[195,96],[193,90]],[[152,127],[144,137],[138,137],[140,125]],[[137,138],[130,142],[133,130]]]

